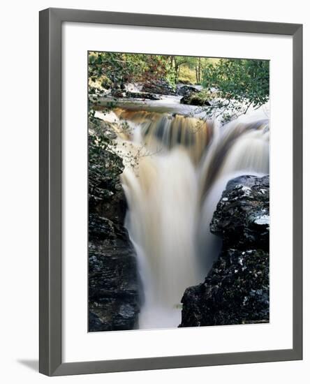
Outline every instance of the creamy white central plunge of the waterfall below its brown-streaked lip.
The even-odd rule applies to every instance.
[[[182,292],[198,281],[195,223],[198,185],[195,168],[182,148],[145,158],[139,177],[124,172],[127,227],[140,260],[145,306],[140,328],[179,323]]]

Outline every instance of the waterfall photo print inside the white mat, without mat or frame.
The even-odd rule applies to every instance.
[[[89,332],[269,323],[270,62],[87,60]]]

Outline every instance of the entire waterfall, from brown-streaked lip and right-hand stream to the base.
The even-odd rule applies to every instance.
[[[121,179],[142,279],[139,328],[177,327],[184,290],[204,279],[219,253],[209,223],[226,183],[269,172],[268,122],[218,127],[168,113],[114,113],[131,126],[118,148],[137,163]]]

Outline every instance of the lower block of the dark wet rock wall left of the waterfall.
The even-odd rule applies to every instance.
[[[89,310],[98,316],[101,328],[132,330],[139,311],[138,278],[133,248],[123,239],[89,241]]]

